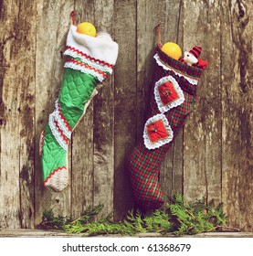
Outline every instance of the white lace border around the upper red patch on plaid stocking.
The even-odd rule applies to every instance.
[[[163,83],[167,82],[167,81],[171,81],[173,83],[174,86],[174,91],[176,91],[179,99],[169,102],[168,104],[164,105],[163,101],[161,100],[161,96],[159,93],[159,86],[162,85]],[[179,105],[181,105],[184,102],[184,92],[182,91],[182,89],[180,88],[178,82],[174,79],[174,77],[172,76],[167,76],[167,77],[163,77],[162,79],[158,80],[155,83],[154,86],[154,98],[155,101],[157,103],[158,109],[160,112],[167,112],[172,108],[175,108]]]

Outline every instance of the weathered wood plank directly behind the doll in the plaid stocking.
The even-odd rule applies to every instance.
[[[203,9],[206,10],[204,2],[184,2],[184,50],[189,51],[194,45],[204,48],[205,34],[199,31],[200,26],[205,26]],[[203,76],[198,83],[198,101],[184,125],[184,197],[187,200],[206,197],[205,105],[200,100],[205,94]]]

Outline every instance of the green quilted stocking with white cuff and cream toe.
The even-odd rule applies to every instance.
[[[98,92],[100,83],[111,74],[118,57],[118,44],[108,34],[90,37],[77,33],[76,29],[73,25],[69,29],[62,86],[55,110],[41,133],[43,181],[54,191],[68,186],[67,158],[71,133]]]

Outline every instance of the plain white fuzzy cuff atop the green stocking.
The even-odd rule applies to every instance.
[[[91,58],[100,59],[115,65],[118,58],[119,46],[112,40],[104,40],[100,37],[90,37],[76,32],[77,27],[69,28],[67,46],[79,49]]]

